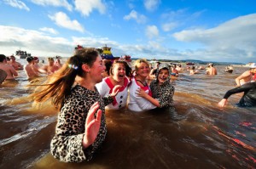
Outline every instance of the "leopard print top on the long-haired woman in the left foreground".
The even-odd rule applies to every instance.
[[[96,88],[96,87],[95,87]],[[90,106],[96,101],[102,110],[102,123],[94,144],[83,148],[84,125]],[[90,161],[96,150],[100,148],[106,134],[106,119],[104,107],[113,102],[112,97],[101,98],[101,95],[79,85],[73,87],[67,96],[58,116],[55,137],[52,138],[50,151],[54,157],[65,162]]]

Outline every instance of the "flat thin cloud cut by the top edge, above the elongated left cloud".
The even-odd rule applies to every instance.
[[[42,6],[54,6],[54,7],[64,7],[67,10],[72,11],[72,5],[67,2],[67,0],[31,0],[32,3],[42,5]]]

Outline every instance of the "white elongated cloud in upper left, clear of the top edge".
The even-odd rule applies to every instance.
[[[70,20],[67,14],[58,12],[54,15],[48,15],[50,20],[55,21],[56,25],[67,28],[69,30],[84,32],[84,28],[79,24],[78,20]]]

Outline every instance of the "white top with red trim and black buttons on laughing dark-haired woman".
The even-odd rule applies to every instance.
[[[105,107],[107,110],[118,110],[126,106],[128,97],[128,84],[129,80],[125,77],[124,86],[119,89],[119,93],[115,96],[113,103],[108,104]],[[96,84],[96,88],[102,97],[108,96],[108,94],[112,93],[113,87],[114,86],[112,82],[110,82],[109,77],[104,78],[102,82]]]

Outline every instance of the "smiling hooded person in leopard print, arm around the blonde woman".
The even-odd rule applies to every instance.
[[[142,88],[137,88],[137,95],[147,99],[149,102],[159,108],[174,108],[173,95],[175,88],[170,82],[171,70],[168,65],[161,64],[156,73],[156,79],[149,87],[152,96],[146,93]]]

